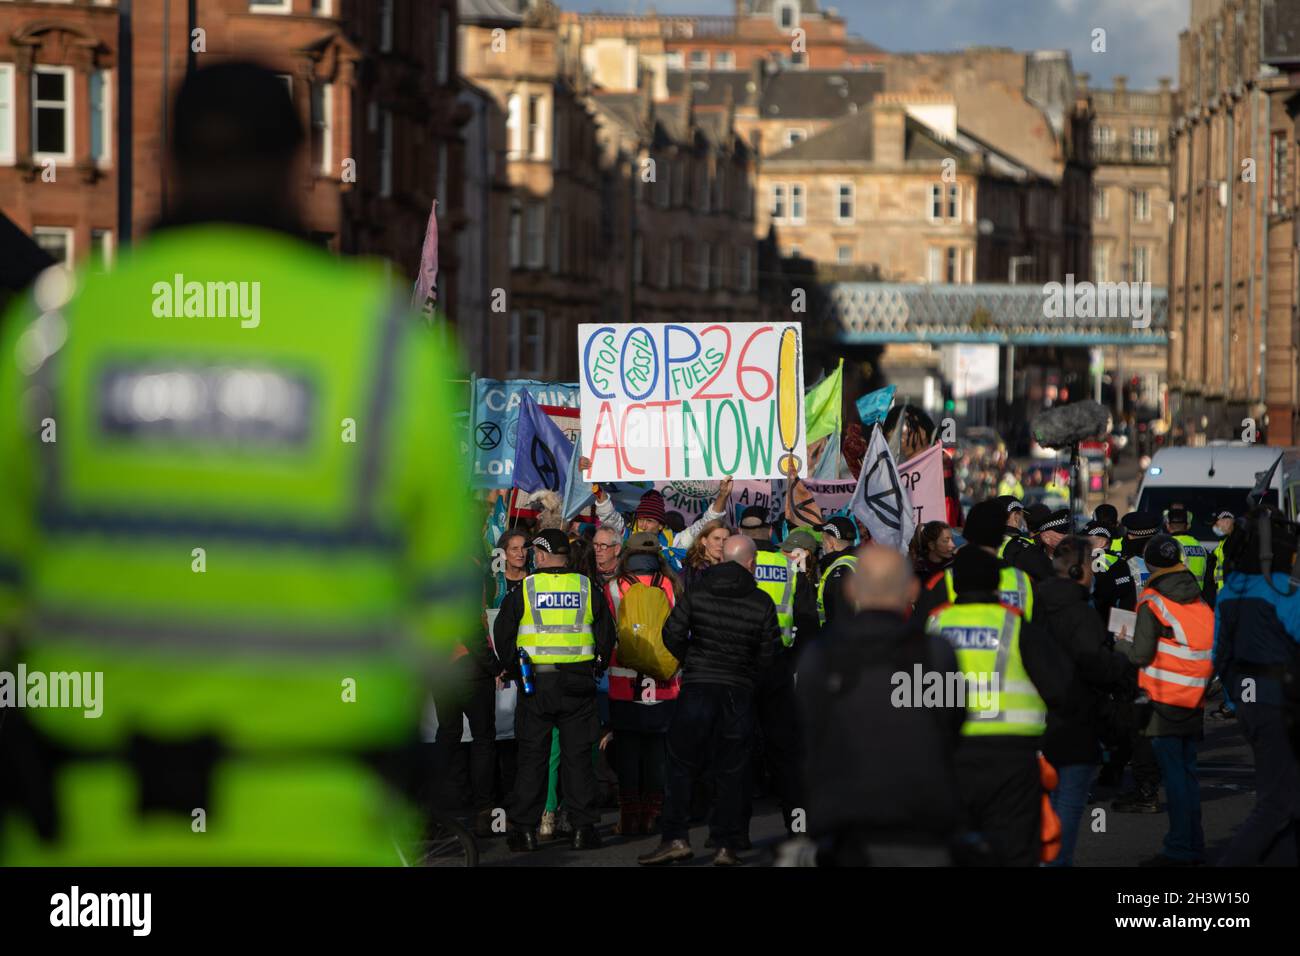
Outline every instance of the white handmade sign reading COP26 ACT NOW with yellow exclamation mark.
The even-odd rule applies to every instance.
[[[800,323],[580,325],[588,481],[807,473]]]

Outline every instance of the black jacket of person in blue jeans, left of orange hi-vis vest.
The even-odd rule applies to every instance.
[[[1057,767],[1098,763],[1109,693],[1132,683],[1132,666],[1112,649],[1110,635],[1088,606],[1088,589],[1082,584],[1052,578],[1037,585],[1035,601],[1035,622],[1070,661],[1065,697],[1048,708],[1043,753]]]

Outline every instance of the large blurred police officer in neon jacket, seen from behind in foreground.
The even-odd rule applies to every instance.
[[[8,714],[0,858],[395,865],[420,675],[477,618],[458,376],[408,291],[306,241],[276,74],[174,103],[170,219],[4,323],[0,631],[105,700]]]

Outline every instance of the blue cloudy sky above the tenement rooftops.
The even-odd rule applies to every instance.
[[[607,13],[732,13],[732,0],[559,0],[564,9]],[[1130,87],[1178,75],[1178,34],[1188,0],[823,0],[838,7],[849,30],[885,49],[967,46],[1069,49],[1093,86],[1117,74]],[[1092,31],[1106,31],[1106,52],[1092,52]]]

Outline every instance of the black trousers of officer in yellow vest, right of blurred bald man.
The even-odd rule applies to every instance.
[[[1043,783],[1032,749],[982,744],[957,750],[957,786],[971,830],[982,834],[1001,866],[1037,866],[1043,834]]]

